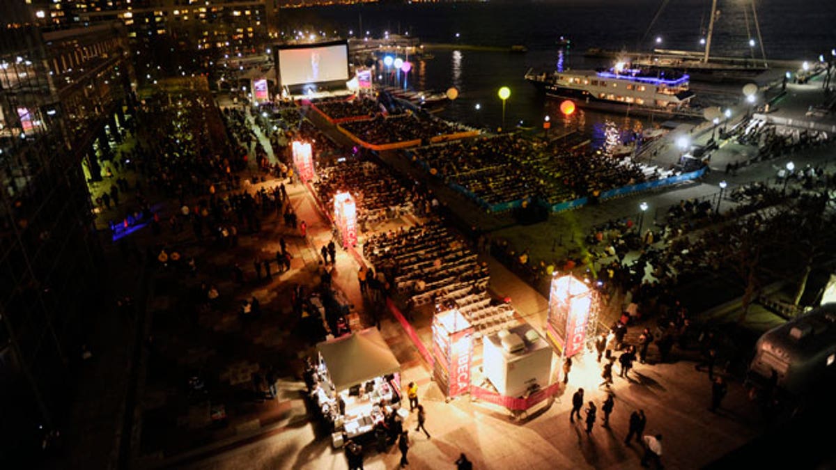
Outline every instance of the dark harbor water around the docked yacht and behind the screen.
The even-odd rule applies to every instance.
[[[575,69],[588,67],[583,54],[589,48],[650,49],[655,38],[668,49],[700,48],[707,29],[710,0],[671,0],[653,28],[648,29],[660,0],[568,0],[553,2],[391,4],[372,3],[349,7],[283,10],[283,24],[289,29],[311,28],[336,31],[362,29],[380,37],[409,32],[424,43],[461,44],[461,49],[433,50],[433,59],[417,62],[410,72],[410,88],[444,91],[455,86],[460,95],[441,114],[448,119],[496,127],[502,121],[502,101],[497,89],[512,90],[506,105],[506,126],[520,120],[541,125],[543,116],[560,125],[580,127],[600,135],[604,121],[619,128],[638,128],[646,120],[623,115],[584,114],[572,122],[555,120],[558,103],[543,100],[523,79],[529,68],[553,69],[560,59],[555,41],[561,35],[572,40],[563,64]],[[763,46],[770,59],[816,60],[836,48],[836,0],[761,0],[757,2]],[[749,38],[757,38],[752,11],[742,0],[719,0],[712,55],[747,57]],[[751,28],[747,32],[747,19]],[[456,33],[459,37],[456,38]],[[646,38],[644,41],[641,39]],[[507,48],[524,44],[526,54],[474,50],[470,45]],[[760,44],[755,47],[760,55]],[[700,94],[700,91],[697,90]],[[479,104],[481,110],[476,110]],[[644,123],[644,124],[643,124]],[[597,130],[597,131],[596,131]]]

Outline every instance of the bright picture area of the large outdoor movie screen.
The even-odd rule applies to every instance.
[[[278,51],[278,73],[283,85],[347,80],[348,63],[345,44]]]

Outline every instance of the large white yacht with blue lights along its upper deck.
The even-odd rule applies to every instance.
[[[539,74],[529,69],[525,79],[548,97],[573,100],[583,108],[647,115],[699,114],[689,107],[694,97],[690,77],[672,70],[631,69],[626,64]]]

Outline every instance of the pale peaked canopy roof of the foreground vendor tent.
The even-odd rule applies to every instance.
[[[400,371],[400,363],[376,328],[316,345],[337,391]]]

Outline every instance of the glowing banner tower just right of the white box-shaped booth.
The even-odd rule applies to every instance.
[[[548,337],[564,357],[584,350],[587,338],[594,338],[597,303],[589,286],[572,275],[552,278],[548,296]]]

